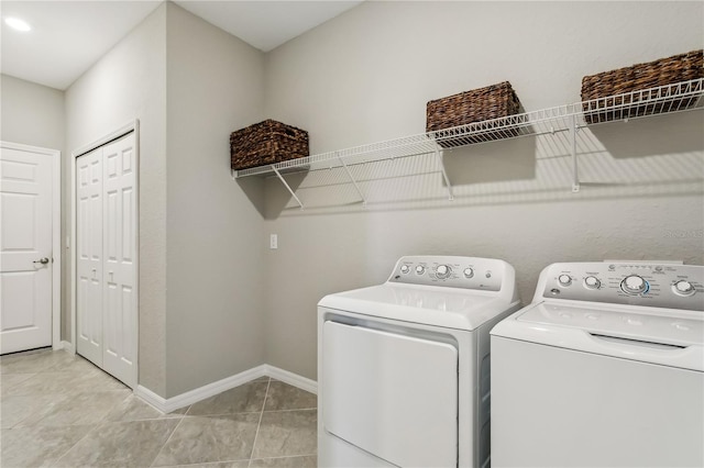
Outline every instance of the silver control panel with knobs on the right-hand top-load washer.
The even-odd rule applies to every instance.
[[[704,266],[649,261],[552,264],[540,275],[542,298],[704,312]],[[538,299],[538,298],[536,298]]]

